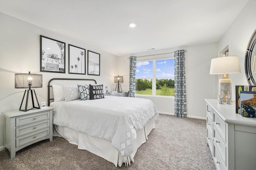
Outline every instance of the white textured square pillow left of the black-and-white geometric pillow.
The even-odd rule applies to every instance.
[[[63,87],[66,102],[80,98],[77,84],[76,85],[62,84],[62,87]]]

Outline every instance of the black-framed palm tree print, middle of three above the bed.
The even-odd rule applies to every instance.
[[[85,49],[68,45],[68,73],[85,74]]]

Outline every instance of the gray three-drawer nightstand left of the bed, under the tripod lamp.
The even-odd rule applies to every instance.
[[[4,147],[13,159],[18,150],[33,143],[49,139],[52,141],[52,109],[32,109],[29,111],[5,111]]]

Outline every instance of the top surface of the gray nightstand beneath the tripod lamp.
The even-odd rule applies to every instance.
[[[29,114],[34,114],[34,113],[42,113],[42,112],[49,111],[52,109],[53,109],[53,107],[49,107],[49,106],[48,106],[48,108],[45,108],[45,109],[31,109],[28,111],[20,111],[18,109],[15,109],[15,110],[10,110],[10,111],[4,111],[4,112],[2,112],[2,114],[7,117],[16,117],[16,116],[23,116],[23,115],[29,115]]]

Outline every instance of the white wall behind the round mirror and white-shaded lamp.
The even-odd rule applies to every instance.
[[[218,42],[218,50],[220,51],[229,41],[230,55],[238,55],[240,57],[241,73],[230,74],[232,80],[232,94],[234,94],[232,95],[233,100],[235,100],[235,86],[248,85],[244,70],[244,57],[250,37],[256,29],[255,7],[256,0],[248,1],[244,9]]]

